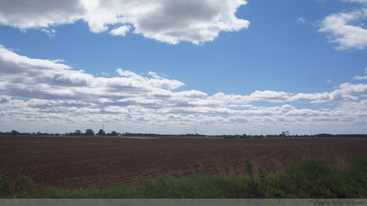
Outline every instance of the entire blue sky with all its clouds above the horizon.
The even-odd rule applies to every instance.
[[[367,0],[0,0],[0,131],[367,134]]]

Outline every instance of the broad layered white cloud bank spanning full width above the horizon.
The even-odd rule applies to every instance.
[[[322,93],[254,91],[208,96],[197,90],[175,92],[184,83],[156,72],[139,75],[116,69],[118,77],[96,77],[59,60],[31,59],[4,46],[0,46],[0,68],[0,121],[6,128],[90,127],[103,122],[116,125],[115,130],[121,126],[137,128],[137,132],[164,128],[165,133],[169,133],[167,128],[180,133],[198,125],[217,134],[233,127],[367,126],[367,85],[363,83],[344,83]]]

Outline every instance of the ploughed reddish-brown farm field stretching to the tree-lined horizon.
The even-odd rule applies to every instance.
[[[220,139],[0,136],[0,171],[30,176],[39,189],[112,186],[157,176],[241,175],[244,158],[265,174],[290,162],[347,164],[367,155],[366,138]]]

